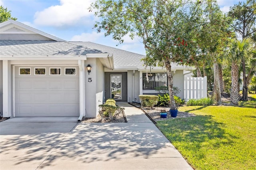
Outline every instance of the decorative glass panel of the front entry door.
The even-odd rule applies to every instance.
[[[110,75],[111,99],[122,100],[122,74]]]

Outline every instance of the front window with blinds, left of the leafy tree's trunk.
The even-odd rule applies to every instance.
[[[142,73],[143,90],[167,86],[167,73]]]

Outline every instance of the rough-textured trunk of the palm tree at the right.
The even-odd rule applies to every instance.
[[[231,89],[230,89],[230,103],[238,105],[240,98],[239,91],[237,89],[239,78],[239,66],[235,62],[231,65]]]

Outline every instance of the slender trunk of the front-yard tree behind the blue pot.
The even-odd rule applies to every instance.
[[[170,59],[164,60],[166,72],[167,72],[167,79],[168,79],[168,89],[169,89],[169,95],[170,95],[170,109],[171,110],[177,110],[176,103],[174,101],[174,95],[173,95],[173,77],[172,77],[172,67],[171,67],[171,61]]]

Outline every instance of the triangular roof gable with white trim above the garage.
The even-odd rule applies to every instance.
[[[8,20],[0,23],[1,40],[64,40],[22,24],[18,21]]]

